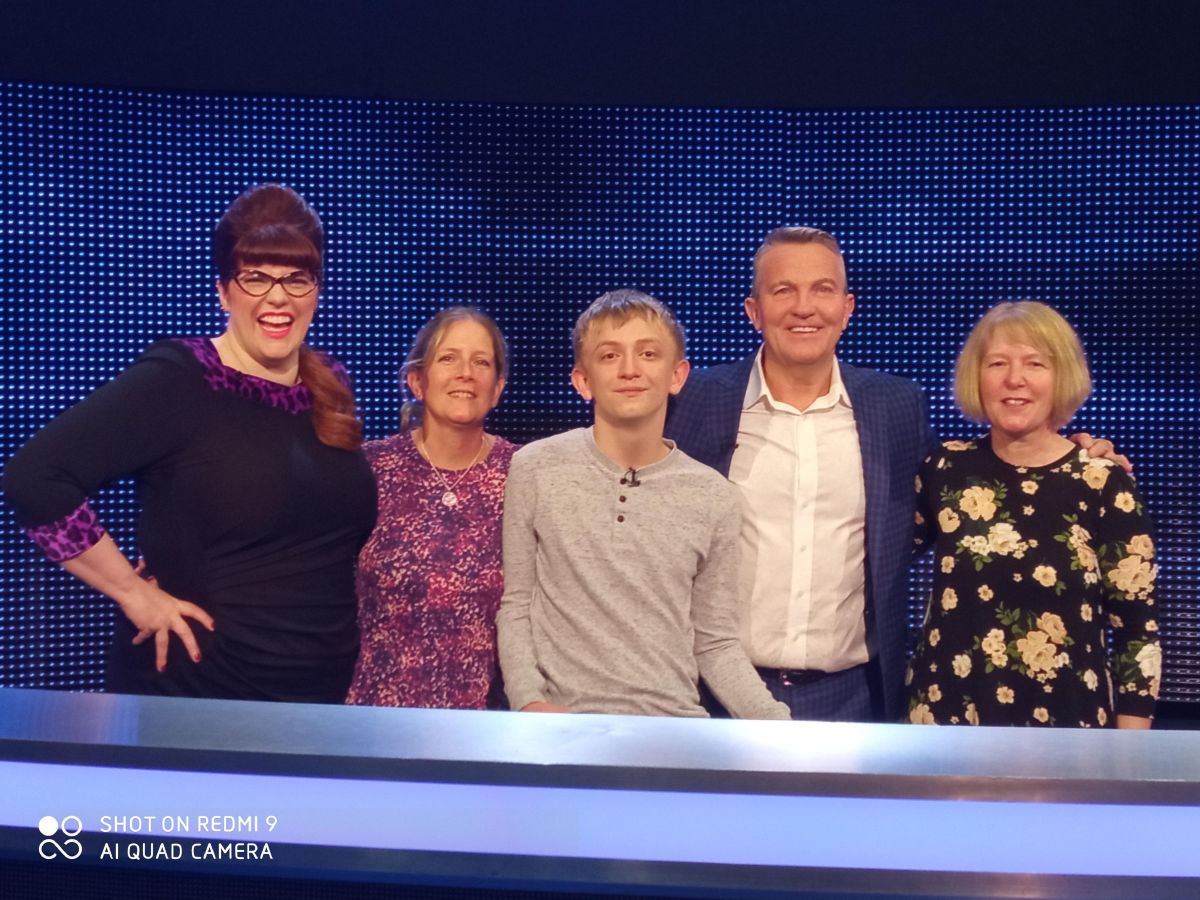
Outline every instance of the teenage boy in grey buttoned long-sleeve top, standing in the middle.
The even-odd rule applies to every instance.
[[[512,457],[500,667],[514,709],[787,719],[738,641],[737,490],[664,440],[683,329],[636,290],[575,324],[571,383],[595,424]]]

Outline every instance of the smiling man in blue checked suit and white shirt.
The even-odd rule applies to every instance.
[[[666,426],[742,496],[743,646],[796,719],[896,720],[924,396],[838,360],[854,295],[826,232],[768,234],[745,311],[757,353],[694,373]]]

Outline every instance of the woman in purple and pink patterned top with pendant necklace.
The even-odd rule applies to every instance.
[[[348,703],[485,709],[502,704],[496,612],[500,526],[514,444],[484,431],[504,390],[496,323],[455,306],[416,335],[404,382],[410,428],[364,449],[379,518],[359,556],[362,650]]]

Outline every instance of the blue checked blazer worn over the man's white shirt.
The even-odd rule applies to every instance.
[[[671,401],[666,436],[728,478],[755,358],[698,370]],[[841,364],[854,408],[866,491],[866,642],[883,676],[883,712],[902,715],[914,479],[936,448],[922,389]]]

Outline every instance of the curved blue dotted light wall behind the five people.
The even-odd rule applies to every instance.
[[[1164,697],[1200,701],[1196,341],[1200,108],[706,110],[220,97],[0,84],[0,454],[160,336],[222,326],[210,233],[282,181],[324,217],[311,335],[348,366],[370,437],[396,371],[451,302],[512,346],[491,427],[586,421],[568,332],[604,290],[674,307],[695,364],[750,353],[750,257],[778,224],[846,250],[845,360],[948,382],[971,324],[1034,298],[1075,324],[1097,390],[1074,428],[1135,461],[1158,522]],[[132,557],[127,485],[96,504]],[[914,624],[928,565],[913,578]],[[112,605],[0,518],[0,684],[96,689]]]

